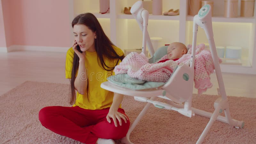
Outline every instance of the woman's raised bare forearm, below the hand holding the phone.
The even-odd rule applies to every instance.
[[[78,73],[75,79],[75,89],[80,94],[85,94],[87,91],[87,72],[85,68],[85,60],[79,59]]]

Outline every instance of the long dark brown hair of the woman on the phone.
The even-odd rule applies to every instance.
[[[115,68],[115,66],[118,64],[118,60],[124,59],[124,55],[119,56],[116,53],[116,51],[113,48],[114,44],[108,39],[99,21],[92,13],[84,13],[76,16],[72,21],[72,28],[74,28],[74,25],[76,24],[83,24],[87,26],[89,29],[91,29],[92,32],[96,32],[97,39],[94,39],[95,40],[94,44],[95,44],[95,50],[98,56],[98,60],[100,61],[102,68],[104,68],[107,71],[112,71]],[[79,52],[82,52],[79,46],[77,47],[77,49]],[[114,67],[107,66],[103,59],[104,57],[109,60],[117,59],[115,66]],[[70,80],[70,86],[71,86],[70,104],[74,104],[76,100],[74,82],[76,79],[75,76],[78,70],[78,66],[79,66],[79,57],[77,56],[76,53],[74,53],[73,68],[72,68],[71,80]],[[87,85],[87,88],[88,88],[88,85]],[[88,91],[87,91],[87,98],[88,98]]]

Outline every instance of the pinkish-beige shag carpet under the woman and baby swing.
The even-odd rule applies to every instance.
[[[0,143],[80,143],[44,128],[38,112],[46,106],[70,106],[69,85],[27,81],[0,96]],[[194,95],[193,107],[213,112],[213,103],[219,96]],[[256,143],[256,99],[228,96],[233,119],[244,121],[242,129],[216,121],[204,143]],[[131,123],[146,103],[125,96],[123,108]],[[171,110],[149,108],[131,133],[135,144],[196,143],[209,118],[188,118]],[[120,140],[116,140],[119,144]]]

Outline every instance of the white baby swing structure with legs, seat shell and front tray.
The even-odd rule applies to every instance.
[[[145,54],[146,52],[146,43],[148,44],[148,49],[150,55],[154,55],[154,49],[152,47],[151,41],[149,39],[147,25],[148,25],[148,11],[143,9],[142,1],[138,1],[133,4],[131,8],[131,13],[134,18],[137,20],[140,29],[143,31],[143,42],[142,42],[142,52]],[[192,43],[192,55],[190,60],[190,65],[187,66],[184,63],[180,63],[177,68],[173,71],[169,81],[157,89],[148,89],[148,90],[132,90],[128,88],[124,88],[113,84],[109,81],[101,84],[103,89],[106,89],[111,92],[116,92],[124,95],[134,96],[134,99],[141,102],[148,102],[147,105],[140,112],[139,116],[135,119],[133,124],[130,126],[126,137],[122,139],[122,142],[132,144],[129,137],[132,130],[139,123],[142,116],[148,110],[150,104],[153,104],[157,108],[164,108],[168,110],[174,110],[179,112],[180,114],[188,117],[192,117],[195,114],[200,116],[205,116],[210,118],[210,121],[206,125],[204,131],[201,136],[197,140],[196,143],[202,143],[206,134],[210,130],[212,124],[215,120],[218,120],[223,123],[227,123],[236,128],[243,128],[244,122],[237,121],[231,118],[227,95],[222,79],[222,74],[220,70],[219,59],[217,56],[217,51],[213,39],[213,31],[212,31],[212,17],[211,17],[211,6],[204,5],[195,15],[193,20],[193,43]],[[212,53],[212,59],[215,67],[215,72],[218,79],[219,89],[218,94],[221,98],[218,98],[214,102],[214,112],[206,112],[200,109],[192,108],[192,92],[193,92],[193,83],[194,83],[194,65],[195,65],[195,52],[196,52],[196,36],[198,26],[204,29],[207,39],[209,41],[210,50]],[[161,51],[163,49],[158,49]],[[166,48],[165,48],[166,52]],[[166,53],[165,53],[166,54]],[[163,54],[162,56],[164,56]],[[153,56],[156,57],[156,54]],[[182,85],[182,86],[181,86]],[[177,91],[178,90],[178,91]],[[166,100],[170,100],[170,103],[164,103],[160,101],[156,101],[157,97],[164,98]],[[149,99],[150,98],[150,99]],[[183,103],[184,104],[181,104]],[[224,110],[225,116],[219,116],[220,113]]]

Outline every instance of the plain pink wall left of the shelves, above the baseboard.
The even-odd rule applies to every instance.
[[[70,46],[68,0],[2,0],[7,46]]]

